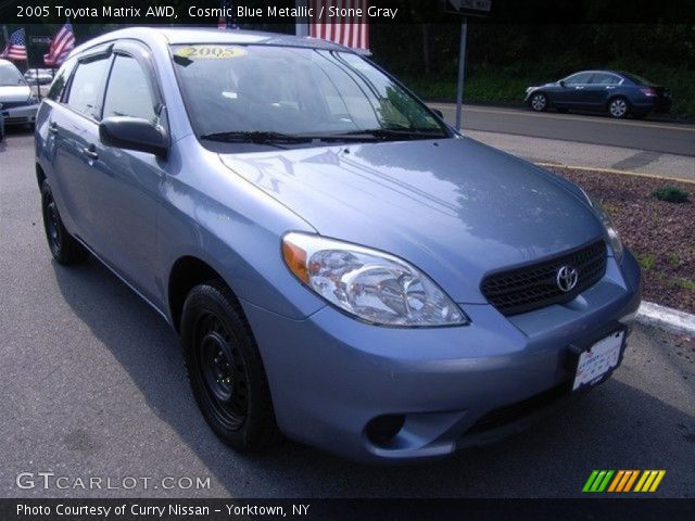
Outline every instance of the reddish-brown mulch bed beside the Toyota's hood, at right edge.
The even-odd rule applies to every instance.
[[[695,183],[553,167],[599,200],[624,244],[642,265],[643,298],[695,313]],[[659,201],[665,185],[690,194],[686,203]]]

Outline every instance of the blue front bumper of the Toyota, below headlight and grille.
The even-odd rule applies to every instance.
[[[291,320],[243,307],[285,434],[352,459],[410,460],[494,441],[569,396],[570,345],[629,327],[640,291],[626,252],[568,304],[514,317],[466,305],[466,327],[376,327],[331,307]],[[402,428],[377,439],[367,425],[384,417]]]

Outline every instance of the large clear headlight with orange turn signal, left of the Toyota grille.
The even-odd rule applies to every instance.
[[[290,270],[333,306],[383,326],[463,326],[468,317],[424,272],[368,247],[291,232],[282,239]]]

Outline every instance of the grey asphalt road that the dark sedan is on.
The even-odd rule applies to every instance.
[[[455,122],[451,103],[429,103]],[[464,105],[464,130],[482,130],[549,138],[641,151],[695,156],[695,125],[668,120],[612,119],[601,114],[559,114],[554,111]]]

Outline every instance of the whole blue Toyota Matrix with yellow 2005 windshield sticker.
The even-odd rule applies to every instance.
[[[172,325],[237,449],[497,440],[604,381],[640,303],[596,201],[317,39],[84,43],[40,106],[36,175],[55,259],[90,252]]]

